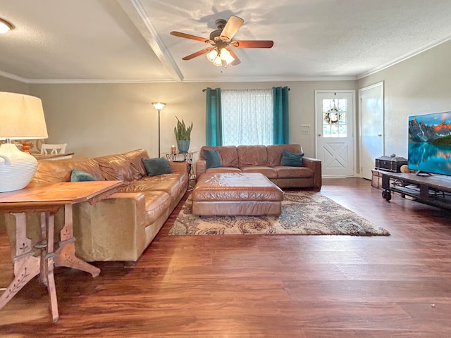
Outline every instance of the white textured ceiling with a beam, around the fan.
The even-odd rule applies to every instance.
[[[223,73],[202,42],[218,18],[240,16]],[[0,75],[24,82],[171,82],[355,79],[451,38],[449,0],[2,0]]]

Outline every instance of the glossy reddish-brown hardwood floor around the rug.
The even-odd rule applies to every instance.
[[[57,268],[55,324],[32,280],[0,310],[0,337],[451,337],[451,212],[388,203],[359,178],[321,193],[391,236],[168,236],[176,209],[134,268]]]

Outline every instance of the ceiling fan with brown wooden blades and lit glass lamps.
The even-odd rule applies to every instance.
[[[171,32],[175,37],[184,37],[185,39],[193,39],[210,46],[197,51],[193,54],[185,56],[182,60],[191,60],[202,54],[206,54],[206,58],[214,65],[238,65],[241,63],[233,49],[235,48],[271,48],[274,44],[271,40],[233,40],[233,36],[240,29],[245,20],[235,15],[230,16],[228,20],[219,19],[215,24],[217,29],[210,33],[210,38],[197,37],[195,35],[185,34],[182,32]]]

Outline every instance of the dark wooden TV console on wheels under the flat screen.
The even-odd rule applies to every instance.
[[[441,208],[451,208],[451,177],[441,175],[420,176],[416,174],[382,174],[382,197],[386,201],[392,198],[392,192],[411,196],[415,201]]]

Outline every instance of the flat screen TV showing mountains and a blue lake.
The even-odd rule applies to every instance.
[[[408,167],[451,175],[451,112],[409,116]]]

